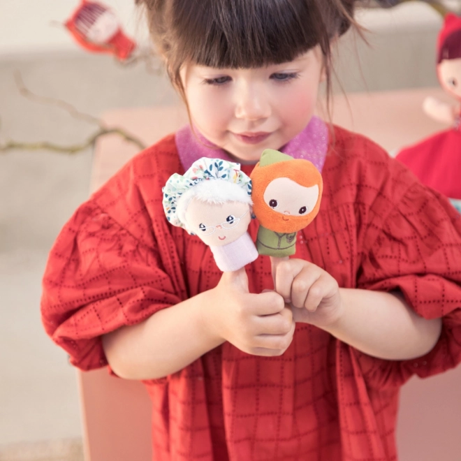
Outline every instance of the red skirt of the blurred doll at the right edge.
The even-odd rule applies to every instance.
[[[461,132],[441,131],[410,147],[396,157],[426,186],[450,198],[461,198]]]

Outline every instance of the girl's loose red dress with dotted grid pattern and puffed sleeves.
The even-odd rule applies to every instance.
[[[395,460],[399,387],[461,361],[461,215],[371,141],[338,128],[335,138],[321,210],[298,234],[296,256],[340,286],[400,288],[418,314],[444,317],[439,342],[409,361],[366,356],[306,324],[281,357],[226,343],[146,381],[154,460]],[[183,169],[168,136],[82,205],[54,244],[43,324],[82,369],[107,363],[104,333],[219,280],[210,249],[163,214],[161,188],[175,172]],[[247,272],[251,291],[272,286],[267,257]]]

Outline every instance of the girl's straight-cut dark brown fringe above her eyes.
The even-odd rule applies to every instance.
[[[309,3],[196,1],[195,8],[177,10],[175,43],[184,61],[214,68],[256,68],[293,61],[319,43],[323,49],[329,41],[328,30],[319,27],[322,15],[315,3]]]

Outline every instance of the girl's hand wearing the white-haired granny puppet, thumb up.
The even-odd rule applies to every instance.
[[[290,307],[275,291],[249,293],[244,268],[224,272],[211,299],[203,306],[207,332],[255,356],[280,356],[293,339]]]

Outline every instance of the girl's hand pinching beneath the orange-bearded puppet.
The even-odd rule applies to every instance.
[[[293,306],[296,322],[320,328],[335,323],[344,311],[337,281],[302,259],[272,261],[275,291]]]

